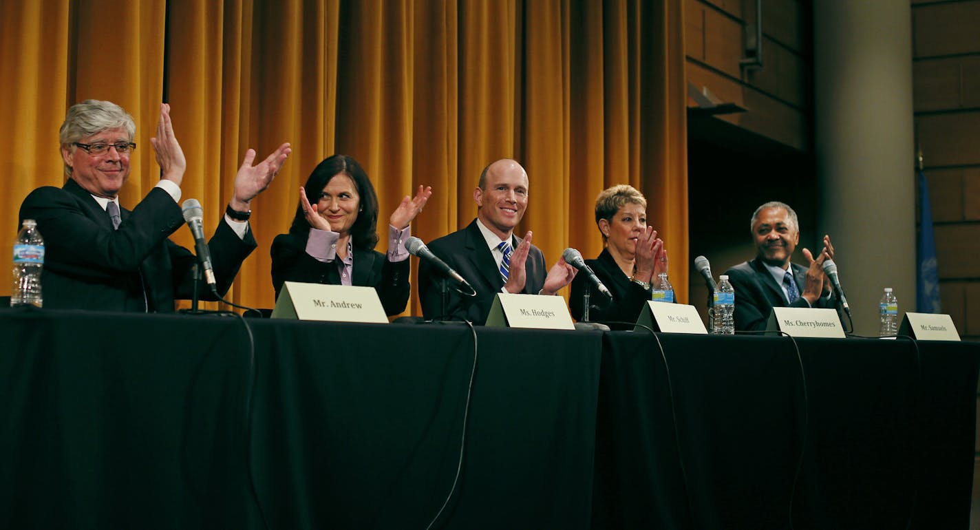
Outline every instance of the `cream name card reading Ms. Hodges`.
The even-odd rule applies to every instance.
[[[537,329],[575,329],[560,296],[497,293],[486,325]]]

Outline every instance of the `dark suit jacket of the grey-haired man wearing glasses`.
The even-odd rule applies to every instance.
[[[171,196],[153,188],[113,230],[106,211],[91,194],[69,179],[62,188],[30,192],[21,219],[37,221],[44,238],[41,286],[44,307],[102,311],[172,313],[175,299],[193,294],[196,258],[170,236],[184,223]],[[239,239],[221,220],[209,242],[218,292],[231,286],[242,261],[256,247],[251,230]],[[204,300],[214,300],[207,287]]]

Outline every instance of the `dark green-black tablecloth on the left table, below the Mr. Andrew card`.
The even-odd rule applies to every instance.
[[[249,324],[0,312],[0,527],[424,528],[470,328]],[[476,336],[438,526],[588,527],[601,335]]]

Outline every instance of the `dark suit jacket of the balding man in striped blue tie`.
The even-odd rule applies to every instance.
[[[512,248],[517,248],[520,238],[512,235],[511,239]],[[476,225],[476,219],[462,230],[433,240],[428,244],[428,248],[432,254],[466,278],[476,291],[476,296],[465,297],[450,287],[448,305],[443,314],[441,290],[443,274],[422,260],[418,266],[418,296],[425,318],[462,318],[478,325],[486,323],[494,297],[504,286],[504,278],[500,275],[493,254],[487,248],[486,239]],[[524,269],[527,272],[527,281],[524,283],[522,293],[538,294],[545,285],[545,276],[548,273],[541,249],[531,245]]]

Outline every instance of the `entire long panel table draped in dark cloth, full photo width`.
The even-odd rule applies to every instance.
[[[3,310],[0,527],[965,528],[978,354]]]

